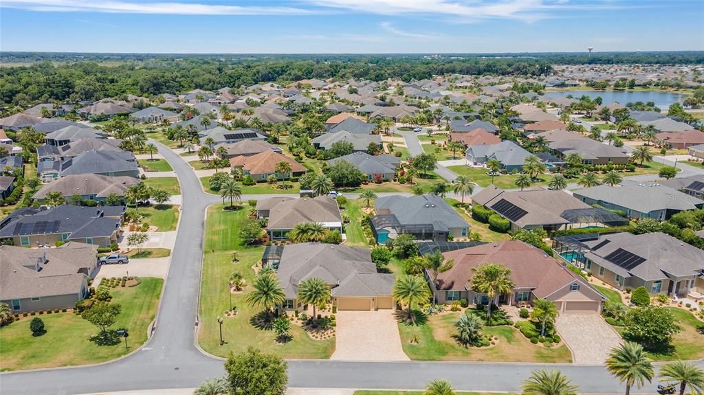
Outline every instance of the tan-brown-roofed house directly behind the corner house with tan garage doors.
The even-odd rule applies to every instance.
[[[282,200],[279,197],[272,197],[272,199],[274,199],[273,202],[277,200],[279,202],[268,208],[267,232],[271,240],[285,240],[287,233],[294,226],[311,222],[321,224],[329,231],[344,232],[342,214],[337,206],[337,200],[327,196],[300,197],[291,200]],[[260,207],[259,204],[258,207]],[[265,207],[264,204],[261,207]],[[258,208],[258,213],[265,214],[265,210]]]

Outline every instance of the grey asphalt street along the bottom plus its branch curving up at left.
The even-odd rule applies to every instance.
[[[203,224],[206,207],[220,202],[208,195],[189,165],[158,144],[177,173],[183,209],[156,330],[146,346],[118,361],[100,365],[0,374],[0,394],[90,394],[139,389],[197,387],[224,373],[222,360],[196,347]],[[236,342],[237,339],[227,339]],[[699,362],[700,365],[704,363]],[[459,362],[289,361],[289,386],[302,388],[422,389],[444,377],[463,390],[517,391],[531,370],[546,365]],[[555,367],[555,365],[553,365]],[[559,365],[584,393],[616,394],[623,387],[600,366]],[[655,383],[634,394],[653,394]]]

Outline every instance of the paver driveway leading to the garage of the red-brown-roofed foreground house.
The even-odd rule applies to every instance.
[[[555,321],[560,337],[572,350],[574,363],[603,365],[622,339],[598,314],[561,314]]]

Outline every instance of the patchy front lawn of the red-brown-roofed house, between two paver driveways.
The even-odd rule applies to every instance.
[[[571,362],[565,345],[546,348],[532,344],[511,326],[485,327],[484,334],[498,337],[494,347],[482,349],[460,345],[453,335],[453,321],[463,312],[448,312],[427,317],[427,323],[398,323],[401,345],[414,361],[501,361],[501,362]],[[417,344],[410,340],[415,336]]]

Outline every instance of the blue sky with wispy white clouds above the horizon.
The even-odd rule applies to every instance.
[[[703,0],[0,0],[0,50],[702,51],[703,20]]]

